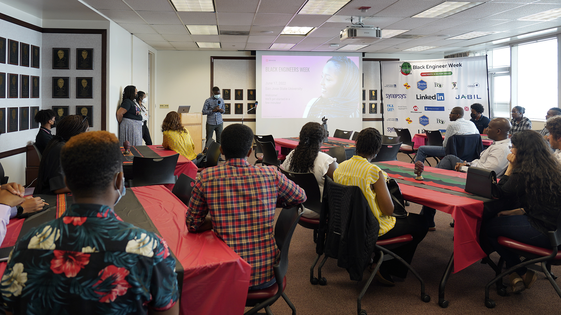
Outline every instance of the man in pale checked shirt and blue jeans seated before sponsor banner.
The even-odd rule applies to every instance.
[[[425,163],[426,156],[445,156],[446,155],[446,144],[448,139],[453,135],[473,135],[479,134],[477,127],[470,121],[463,119],[463,108],[454,107],[450,114],[448,115],[451,123],[446,128],[446,135],[444,136],[443,146],[420,146],[417,155],[415,156],[415,162],[421,161]]]

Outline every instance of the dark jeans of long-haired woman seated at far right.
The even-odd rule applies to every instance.
[[[551,248],[549,237],[536,230],[528,221],[525,215],[508,215],[494,217],[486,223],[486,232],[489,242],[495,251],[503,257],[507,263],[507,268],[511,268],[520,263],[517,253],[511,252],[508,248],[499,245],[499,236],[508,237],[518,242],[534,245],[542,248]],[[526,274],[528,268],[522,267],[516,270],[518,275]]]

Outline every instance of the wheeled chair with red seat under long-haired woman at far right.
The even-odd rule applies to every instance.
[[[551,265],[561,265],[561,253],[558,252],[558,246],[561,245],[561,216],[559,216],[557,219],[557,230],[548,231],[548,237],[549,242],[551,243],[551,248],[542,248],[528,245],[507,237],[497,238],[500,245],[508,248],[509,250],[519,254],[522,257],[525,257],[525,260],[518,265],[505,270],[504,272],[502,272],[502,274],[496,275],[493,280],[489,281],[489,283],[485,285],[485,306],[487,308],[494,308],[496,305],[495,301],[489,298],[489,288],[491,285],[497,283],[497,293],[502,296],[507,295],[505,291],[501,290],[502,288],[504,288],[502,285],[503,277],[511,274],[514,270],[517,270],[520,267],[533,265],[534,263],[540,263],[541,271],[544,272],[545,276],[548,278],[549,282],[551,283],[551,285],[553,285],[553,288],[557,292],[557,295],[559,295],[559,297],[561,298],[561,289],[559,289],[559,286],[555,282],[555,279],[557,279],[557,277],[551,274]],[[498,270],[502,270],[503,262],[504,261],[501,258],[499,260],[499,263],[497,264]]]

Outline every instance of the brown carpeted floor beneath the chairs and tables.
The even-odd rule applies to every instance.
[[[401,161],[410,161],[407,155],[398,154]],[[248,159],[253,164],[253,154]],[[434,166],[433,159],[431,164]],[[420,205],[411,204],[409,212],[419,213]],[[277,209],[277,214],[280,209]],[[452,274],[448,280],[446,299],[448,308],[438,305],[438,285],[453,247],[453,228],[450,215],[436,211],[436,231],[429,231],[417,247],[412,266],[425,280],[426,293],[430,295],[429,303],[420,299],[420,283],[411,273],[407,279],[395,279],[396,286],[387,287],[374,280],[362,299],[362,308],[368,314],[561,314],[561,299],[545,278],[539,273],[538,280],[530,290],[521,294],[508,292],[509,297],[500,297],[494,286],[491,287],[491,299],[496,307],[488,309],[484,305],[484,288],[486,282],[493,278],[494,272],[488,265],[479,262]],[[327,285],[311,285],[309,281],[310,266],[315,257],[315,243],[312,230],[298,225],[292,237],[289,252],[286,294],[296,307],[298,314],[356,314],[356,299],[362,286],[370,276],[364,273],[361,282],[351,281],[343,268],[337,267],[337,261],[329,259],[322,270],[327,278]],[[496,262],[498,256],[491,255]],[[319,263],[318,263],[319,265]],[[561,268],[553,267],[556,275],[561,275]],[[317,268],[315,271],[317,275]],[[505,283],[508,277],[504,279]],[[558,283],[561,280],[558,280]],[[246,311],[249,308],[246,308]],[[288,305],[280,298],[271,307],[274,314],[291,314]],[[263,313],[264,311],[261,311]]]

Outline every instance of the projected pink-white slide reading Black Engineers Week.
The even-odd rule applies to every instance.
[[[359,57],[267,54],[260,59],[261,118],[362,117]]]

